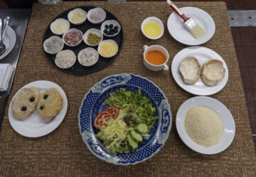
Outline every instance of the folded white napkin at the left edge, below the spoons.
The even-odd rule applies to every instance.
[[[6,91],[9,86],[14,67],[11,64],[0,64],[0,91]]]

